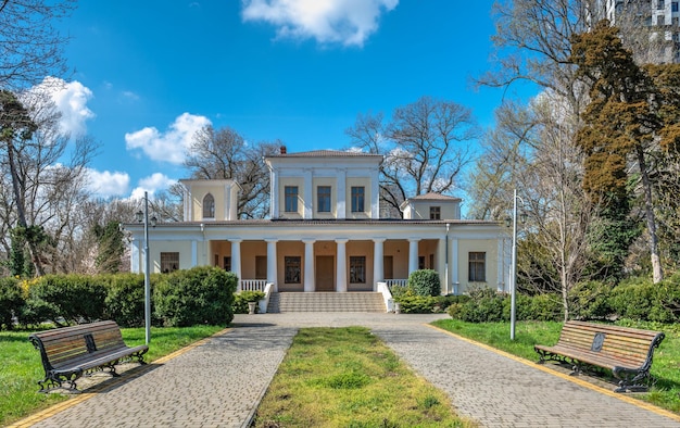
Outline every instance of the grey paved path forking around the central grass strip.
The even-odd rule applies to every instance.
[[[247,427],[299,327],[361,325],[445,391],[459,415],[484,427],[680,427],[678,416],[664,416],[426,326],[439,317],[445,316],[237,315],[227,333],[23,426]]]

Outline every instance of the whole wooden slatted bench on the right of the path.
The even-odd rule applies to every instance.
[[[537,344],[533,349],[540,355],[539,364],[546,360],[571,364],[572,374],[583,367],[606,368],[619,379],[616,392],[646,391],[654,349],[664,337],[660,331],[571,320],[565,323],[554,347]]]

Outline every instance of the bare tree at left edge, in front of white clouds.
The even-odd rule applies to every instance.
[[[12,197],[5,194],[0,218],[5,230],[14,225],[25,230],[35,273],[41,275],[45,262],[59,265],[62,234],[77,224],[73,216],[87,197],[84,175],[97,143],[80,137],[66,153],[70,139],[60,134],[60,114],[45,93],[25,93],[21,101],[2,93],[0,165]]]

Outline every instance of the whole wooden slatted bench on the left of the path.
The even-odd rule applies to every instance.
[[[63,383],[72,392],[79,392],[76,380],[84,374],[108,368],[112,376],[119,376],[115,372],[117,363],[137,358],[146,364],[143,354],[149,350],[146,344],[126,345],[121,328],[113,320],[36,332],[28,340],[42,358],[45,379],[38,381],[40,392],[62,388]]]

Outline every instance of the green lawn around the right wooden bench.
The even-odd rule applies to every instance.
[[[555,344],[562,329],[562,323],[521,322],[516,324],[515,340],[512,341],[509,340],[509,323],[474,324],[456,319],[440,319],[432,325],[532,362],[538,361],[533,345]],[[652,376],[656,379],[656,385],[646,393],[630,395],[680,414],[680,326],[648,323],[626,324],[626,326],[666,333],[660,347],[654,352]]]

